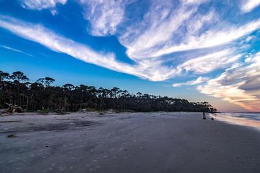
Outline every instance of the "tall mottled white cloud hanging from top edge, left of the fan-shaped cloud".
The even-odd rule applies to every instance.
[[[116,33],[125,14],[125,1],[122,0],[80,0],[84,6],[84,17],[90,21],[90,34],[107,36]]]

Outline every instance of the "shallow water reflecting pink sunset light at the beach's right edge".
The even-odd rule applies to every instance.
[[[219,113],[210,116],[230,124],[254,127],[260,130],[260,113]]]

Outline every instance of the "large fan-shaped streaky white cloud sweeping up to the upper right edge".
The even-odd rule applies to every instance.
[[[127,55],[138,61],[231,44],[260,28],[259,19],[237,25],[220,21],[215,8],[201,14],[198,7],[205,2],[183,1],[176,9],[170,1],[153,1],[142,21],[122,26],[118,39]]]

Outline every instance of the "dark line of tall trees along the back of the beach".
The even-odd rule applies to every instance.
[[[21,71],[9,74],[0,70],[0,109],[16,105],[23,111],[217,111],[208,102],[192,103],[185,99],[140,92],[130,94],[116,87],[109,90],[70,83],[53,86],[54,81],[51,77],[44,77],[30,82]]]

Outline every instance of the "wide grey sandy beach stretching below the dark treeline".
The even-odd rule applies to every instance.
[[[207,117],[1,116],[0,172],[260,172],[260,131]]]

